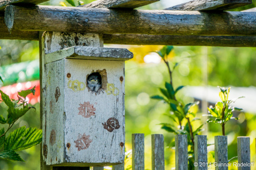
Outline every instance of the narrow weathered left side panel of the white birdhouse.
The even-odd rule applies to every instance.
[[[43,142],[47,165],[63,162],[64,140],[64,61],[46,64],[46,107],[44,108]]]

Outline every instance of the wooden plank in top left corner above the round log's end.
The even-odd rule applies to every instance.
[[[5,11],[5,7],[11,4],[33,4],[37,5],[40,3],[47,2],[49,0],[0,0],[0,12]]]

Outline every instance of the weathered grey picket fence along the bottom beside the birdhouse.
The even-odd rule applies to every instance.
[[[152,135],[152,170],[164,170],[164,137],[162,134]],[[250,138],[238,137],[238,170],[253,169],[250,162]],[[132,169],[144,170],[144,134],[132,134]],[[187,135],[175,136],[176,170],[188,169]],[[195,170],[206,170],[207,166],[207,136],[195,136]],[[215,166],[216,170],[228,170],[227,136],[215,136]],[[124,170],[124,164],[114,165],[114,170]],[[93,167],[93,170],[103,170],[103,167]]]

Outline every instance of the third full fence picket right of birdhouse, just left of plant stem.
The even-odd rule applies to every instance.
[[[175,169],[187,170],[187,135],[175,135]]]

